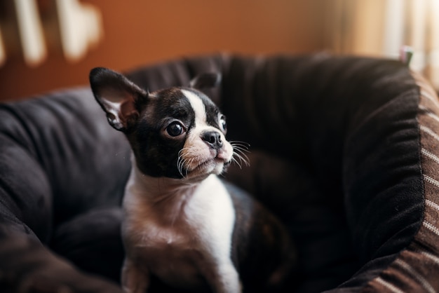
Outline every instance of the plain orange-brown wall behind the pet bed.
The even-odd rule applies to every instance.
[[[0,100],[88,83],[95,66],[125,70],[175,57],[227,51],[305,53],[323,48],[323,0],[83,0],[100,8],[104,39],[74,64],[50,52],[27,67],[0,67]]]

